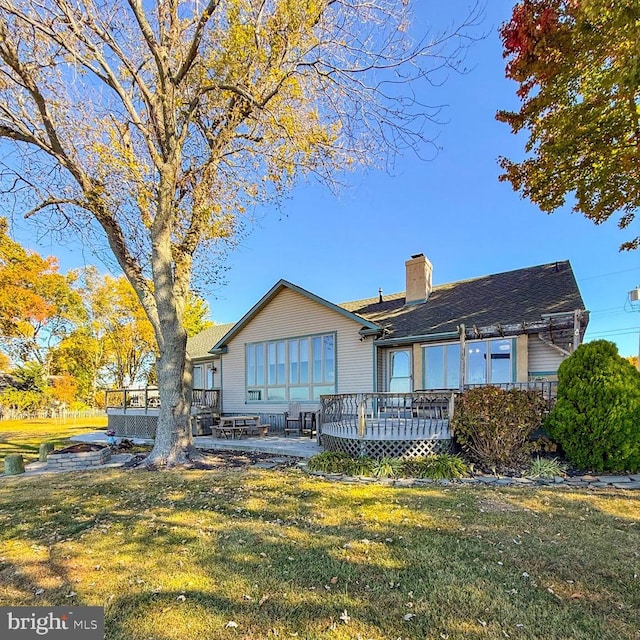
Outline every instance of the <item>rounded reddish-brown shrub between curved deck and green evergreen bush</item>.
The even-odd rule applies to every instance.
[[[541,425],[545,409],[538,391],[478,387],[456,399],[451,425],[471,460],[503,468],[522,462],[529,436]]]

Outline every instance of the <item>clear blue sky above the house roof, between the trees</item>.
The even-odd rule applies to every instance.
[[[640,253],[618,250],[630,234],[614,220],[596,227],[570,207],[542,213],[498,181],[498,156],[522,157],[525,138],[495,120],[498,109],[518,108],[497,34],[513,3],[488,4],[479,28],[487,37],[469,52],[469,72],[425,94],[447,105],[446,123],[434,128],[437,156],[400,158],[393,175],[351,174],[338,196],[300,184],[279,210],[255,212],[260,221],[227,260],[226,284],[205,292],[213,320],[238,320],[280,278],[332,302],[375,296],[379,287],[402,291],[404,262],[420,252],[433,264],[436,285],[570,260],[591,311],[587,340],[610,339],[622,355],[638,353],[640,304],[632,307],[628,293],[640,285]],[[468,6],[418,5],[418,30],[428,20],[450,25]],[[29,244],[28,237],[21,225],[18,239]],[[30,246],[58,255],[63,270],[92,261],[80,247],[63,251],[46,239]]]

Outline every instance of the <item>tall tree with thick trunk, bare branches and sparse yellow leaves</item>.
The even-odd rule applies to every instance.
[[[184,315],[204,249],[215,267],[247,207],[303,175],[428,142],[414,81],[459,63],[477,13],[414,42],[408,4],[0,0],[8,187],[27,216],[97,225],[140,299],[159,354],[149,464],[193,453]]]

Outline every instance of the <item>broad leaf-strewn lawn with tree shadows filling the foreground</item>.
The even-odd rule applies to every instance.
[[[0,481],[0,605],[108,640],[640,638],[640,495],[297,469]]]

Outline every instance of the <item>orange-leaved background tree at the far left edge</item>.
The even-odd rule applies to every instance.
[[[17,363],[46,364],[47,348],[82,317],[74,276],[58,273],[55,258],[27,251],[7,235],[0,218],[0,338]]]

